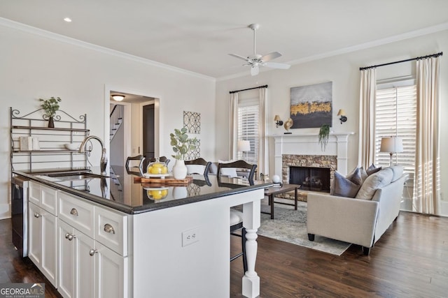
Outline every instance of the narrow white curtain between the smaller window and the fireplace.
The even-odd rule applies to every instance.
[[[258,126],[258,140],[259,148],[258,148],[258,173],[268,174],[269,173],[269,152],[266,140],[266,100],[267,100],[267,88],[258,89],[258,96],[260,100],[260,111],[259,117],[260,121],[258,122],[260,125]]]

